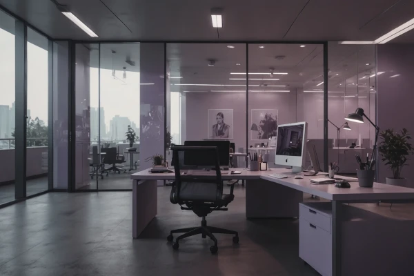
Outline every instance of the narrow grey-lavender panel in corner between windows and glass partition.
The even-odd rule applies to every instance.
[[[53,43],[53,188],[68,189],[68,41]]]

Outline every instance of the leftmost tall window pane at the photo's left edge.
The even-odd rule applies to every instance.
[[[0,204],[14,200],[14,22],[0,11]]]

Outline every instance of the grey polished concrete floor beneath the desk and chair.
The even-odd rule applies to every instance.
[[[158,215],[140,239],[131,237],[131,192],[48,193],[2,208],[0,275],[318,275],[298,257],[298,221],[247,220],[242,186],[227,212],[207,217],[210,226],[239,231],[239,246],[216,235],[219,253],[211,255],[212,242],[196,236],[172,250],[169,231],[201,219],[170,204],[169,194],[158,188]],[[412,205],[366,206],[413,217]]]

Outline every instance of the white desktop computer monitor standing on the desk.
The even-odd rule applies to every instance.
[[[276,165],[292,166],[292,172],[302,172],[307,130],[306,121],[277,126]]]

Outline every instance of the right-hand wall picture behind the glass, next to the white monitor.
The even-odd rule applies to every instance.
[[[277,135],[277,109],[252,109],[250,139],[268,140]]]

